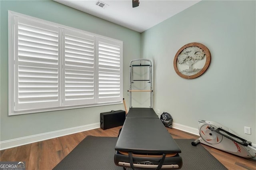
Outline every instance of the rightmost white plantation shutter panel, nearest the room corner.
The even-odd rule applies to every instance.
[[[98,38],[98,102],[122,101],[122,43]]]

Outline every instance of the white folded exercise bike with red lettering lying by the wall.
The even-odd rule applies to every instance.
[[[192,142],[196,146],[199,142],[224,150],[231,154],[256,160],[256,148],[243,138],[237,136],[230,128],[222,126],[214,121],[198,121],[200,138]]]

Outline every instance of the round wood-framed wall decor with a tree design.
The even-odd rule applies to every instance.
[[[202,75],[209,67],[211,54],[201,43],[188,43],[176,53],[173,61],[174,70],[184,79],[194,79]]]

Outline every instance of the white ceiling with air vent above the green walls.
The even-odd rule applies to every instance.
[[[136,8],[132,8],[132,0],[54,1],[131,30],[144,32],[200,0],[140,0],[140,5]],[[96,3],[98,1],[106,5],[103,8],[97,6]]]

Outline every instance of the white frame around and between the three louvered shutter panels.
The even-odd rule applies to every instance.
[[[15,97],[15,90],[18,88],[18,86],[16,85],[16,80],[18,78],[18,73],[16,73],[15,71],[15,67],[18,65],[17,60],[15,59],[15,55],[17,54],[18,51],[18,42],[15,41],[15,24],[18,24],[15,20],[15,18],[20,17],[20,18],[25,18],[28,20],[32,20],[32,21],[36,21],[36,22],[40,22],[42,24],[47,24],[50,26],[55,26],[58,27],[60,29],[60,38],[59,38],[59,46],[61,46],[58,49],[58,55],[60,55],[59,59],[60,61],[58,61],[58,68],[60,68],[58,73],[58,90],[60,91],[60,93],[58,93],[58,102],[60,103],[58,107],[52,107],[52,108],[44,108],[44,109],[25,109],[25,110],[16,110],[15,109],[15,101],[16,97]],[[16,23],[14,23],[16,22]],[[17,26],[17,25],[16,25]],[[65,93],[64,89],[64,85],[63,85],[63,78],[65,77],[65,70],[63,69],[63,62],[64,59],[64,30],[71,30],[73,32],[79,32],[80,34],[84,34],[87,36],[93,36],[95,39],[95,46],[94,46],[94,99],[95,102],[92,104],[84,104],[84,105],[69,105],[69,106],[63,106],[63,93]],[[107,40],[107,41],[112,41],[115,43],[120,44],[120,99],[118,101],[110,101],[110,102],[101,102],[99,103],[97,101],[98,98],[98,80],[99,80],[99,75],[98,75],[98,42],[99,40]],[[15,44],[14,44],[15,43]],[[90,32],[86,32],[84,30],[79,30],[76,28],[72,28],[69,26],[64,26],[61,24],[56,24],[53,22],[49,22],[46,20],[42,20],[39,18],[35,18],[32,16],[27,16],[24,14],[20,14],[17,12],[13,12],[8,10],[8,115],[21,115],[21,114],[28,114],[28,113],[39,113],[39,112],[47,112],[47,111],[59,111],[59,110],[66,110],[66,109],[76,109],[76,108],[84,108],[84,107],[95,107],[95,106],[104,106],[104,105],[114,105],[114,104],[122,104],[123,101],[123,42],[120,40],[116,40],[113,38],[108,38],[105,36],[101,36],[98,34],[93,34]],[[16,105],[17,106],[17,105]]]

